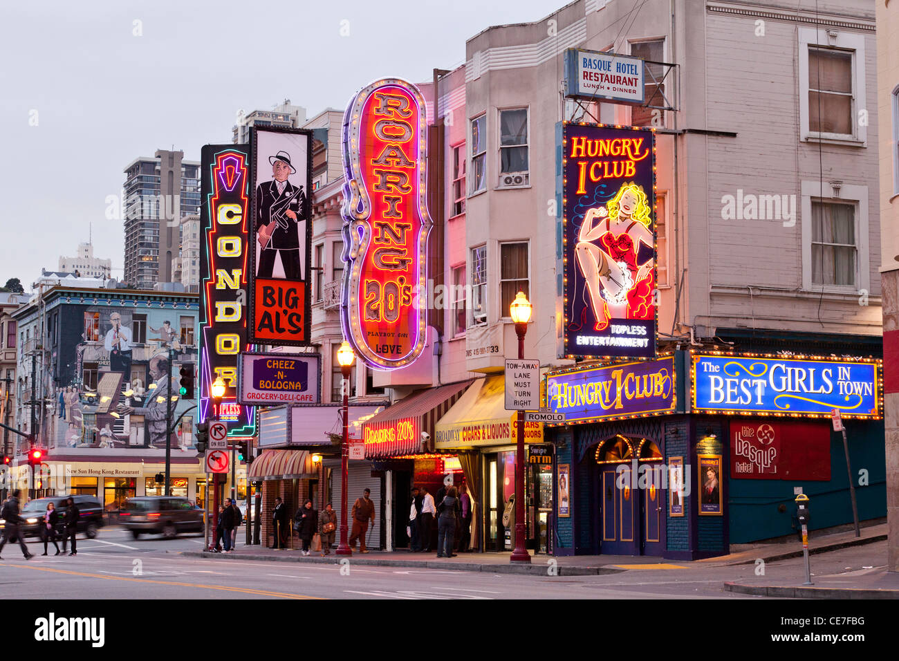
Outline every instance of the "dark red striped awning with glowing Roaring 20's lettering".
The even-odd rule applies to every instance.
[[[434,424],[449,411],[470,380],[414,392],[362,424],[366,459],[387,459],[433,450]],[[430,434],[423,445],[421,434]]]

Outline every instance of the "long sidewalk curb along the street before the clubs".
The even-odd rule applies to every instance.
[[[227,554],[209,553],[209,551],[180,551],[179,555],[190,558],[215,558],[217,560],[263,560],[268,562],[298,562],[309,563],[313,565],[340,565],[344,558],[298,558],[296,556],[269,556],[269,555],[250,555],[250,554]],[[346,558],[350,559],[350,558]],[[404,567],[406,569],[414,569],[423,567],[426,569],[443,569],[446,571],[470,571],[470,572],[486,572],[493,574],[525,574],[531,576],[600,576],[602,574],[618,574],[619,572],[628,571],[627,569],[619,569],[617,567],[564,567],[556,565],[556,573],[554,575],[547,574],[548,564],[536,565],[493,565],[482,564],[477,562],[440,562],[429,560],[418,560],[409,562],[407,560],[378,559],[378,558],[356,558],[352,556],[353,565],[369,565],[374,567]]]

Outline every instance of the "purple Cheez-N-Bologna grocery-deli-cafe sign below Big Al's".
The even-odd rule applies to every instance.
[[[237,401],[248,406],[318,404],[320,363],[317,353],[241,353]]]

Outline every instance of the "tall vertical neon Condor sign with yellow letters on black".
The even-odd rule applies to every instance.
[[[206,145],[201,151],[200,250],[200,420],[218,415],[228,434],[254,433],[254,408],[237,403],[237,358],[248,348],[247,254],[249,149],[245,145]],[[218,411],[211,388],[225,382]]]

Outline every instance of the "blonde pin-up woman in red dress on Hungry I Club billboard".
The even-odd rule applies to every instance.
[[[625,183],[605,206],[584,214],[574,254],[590,291],[596,330],[605,330],[610,319],[654,317],[653,260],[636,262],[641,242],[654,246],[650,211],[643,187]]]

